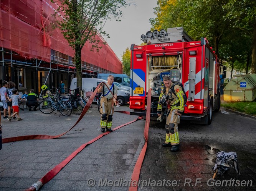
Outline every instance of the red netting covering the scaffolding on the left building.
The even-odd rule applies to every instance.
[[[10,49],[21,57],[37,58],[50,62],[51,49],[74,57],[61,31],[50,24],[57,5],[50,0],[1,0],[0,46]],[[96,39],[105,42],[100,36]],[[86,42],[81,60],[113,73],[122,73],[122,63],[109,45],[101,45],[97,52]]]

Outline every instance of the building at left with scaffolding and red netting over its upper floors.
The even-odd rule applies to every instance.
[[[57,5],[50,0],[0,1],[0,83],[13,81],[19,92],[59,87],[69,88],[76,75],[74,50],[51,21]],[[105,40],[98,35],[101,43]],[[83,77],[97,73],[122,73],[122,63],[109,45],[97,52],[86,42],[82,49]]]

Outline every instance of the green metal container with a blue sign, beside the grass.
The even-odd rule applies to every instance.
[[[234,76],[223,91],[224,101],[253,101],[256,98],[256,74]]]

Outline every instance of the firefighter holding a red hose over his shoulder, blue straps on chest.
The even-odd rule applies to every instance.
[[[116,98],[117,98],[117,86],[113,83],[114,82],[114,76],[109,75],[107,77],[107,86],[105,84],[101,85],[98,89],[98,93],[102,92],[101,95],[101,107],[100,107],[100,113],[101,113],[101,132],[104,132],[105,129],[107,131],[112,132],[112,116],[114,113],[114,103],[116,104]],[[110,91],[109,91],[110,89]],[[114,99],[113,99],[114,95]]]

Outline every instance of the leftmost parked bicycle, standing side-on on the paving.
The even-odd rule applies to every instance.
[[[61,100],[61,97],[58,97],[58,100],[53,100],[51,96],[48,96],[45,100],[40,102],[39,110],[42,113],[52,113],[54,110],[59,111],[64,116],[69,116],[72,113],[72,106],[65,100]]]

